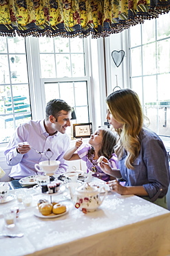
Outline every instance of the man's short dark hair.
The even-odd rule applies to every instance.
[[[64,100],[60,100],[60,99],[50,100],[49,102],[47,102],[47,106],[45,108],[46,120],[51,115],[54,116],[55,118],[58,118],[61,110],[70,112],[72,111],[72,107],[70,107]]]

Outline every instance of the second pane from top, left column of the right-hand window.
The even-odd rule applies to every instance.
[[[131,76],[142,75],[141,48],[131,49]]]

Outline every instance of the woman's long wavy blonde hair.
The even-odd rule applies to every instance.
[[[138,136],[143,126],[142,106],[138,95],[131,89],[122,89],[111,93],[106,101],[113,118],[123,124],[122,129],[116,129],[119,138],[115,153],[120,160],[125,149],[127,151],[125,165],[129,169],[134,169],[134,160],[140,152]]]

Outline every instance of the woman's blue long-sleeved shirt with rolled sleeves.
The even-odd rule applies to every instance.
[[[127,154],[119,161],[120,173],[125,179],[125,186],[140,186],[149,194],[151,201],[156,201],[167,194],[169,187],[169,163],[167,151],[162,140],[149,129],[140,132],[140,153],[135,159],[134,170],[125,166]]]

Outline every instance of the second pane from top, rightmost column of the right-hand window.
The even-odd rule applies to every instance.
[[[158,73],[170,71],[170,39],[158,42]]]

